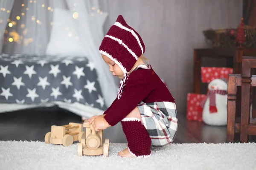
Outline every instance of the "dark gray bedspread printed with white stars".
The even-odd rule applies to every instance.
[[[105,110],[94,66],[86,57],[0,54],[0,102],[79,102]]]

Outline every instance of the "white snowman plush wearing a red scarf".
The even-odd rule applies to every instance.
[[[199,106],[207,125],[227,125],[227,79],[214,79],[208,85],[205,99]]]

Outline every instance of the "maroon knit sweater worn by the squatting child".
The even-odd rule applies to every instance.
[[[139,68],[129,75],[121,98],[113,101],[104,112],[104,118],[109,125],[114,126],[140,102],[175,102],[166,85],[152,68]]]

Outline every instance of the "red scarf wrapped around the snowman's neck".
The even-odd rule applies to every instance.
[[[208,97],[209,97],[209,100],[210,100],[210,103],[209,103],[210,113],[216,113],[218,111],[217,108],[216,108],[216,103],[215,103],[215,94],[226,95],[227,91],[225,91],[225,90],[211,90],[211,91],[208,91],[205,99],[201,102],[201,104],[198,107],[199,112],[203,111],[204,104],[205,104]]]

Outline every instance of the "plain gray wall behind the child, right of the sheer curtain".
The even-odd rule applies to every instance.
[[[109,23],[105,31],[119,14],[123,15],[143,38],[145,57],[165,79],[178,112],[185,114],[186,95],[192,92],[193,49],[208,47],[203,30],[238,26],[241,0],[106,1]]]

